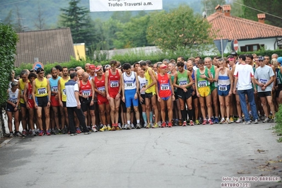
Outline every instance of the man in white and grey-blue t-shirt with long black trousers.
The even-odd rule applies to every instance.
[[[74,125],[74,112],[78,117],[79,123],[83,127],[84,134],[90,134],[88,128],[86,127],[86,117],[81,110],[81,102],[79,101],[79,88],[76,72],[70,74],[70,80],[65,83],[66,89],[66,108],[69,115],[69,129],[71,136],[76,134],[76,129]]]

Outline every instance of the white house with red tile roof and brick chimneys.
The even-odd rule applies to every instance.
[[[264,23],[265,14],[257,15],[258,21],[231,16],[231,6],[216,6],[216,12],[207,17],[213,30],[217,31],[214,40],[228,39],[225,53],[230,51],[231,40],[237,39],[241,52],[266,49],[282,49],[282,28]],[[280,40],[280,41],[279,41]]]

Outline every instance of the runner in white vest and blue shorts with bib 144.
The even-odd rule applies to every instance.
[[[122,74],[122,101],[125,102],[127,107],[127,125],[125,129],[131,129],[130,122],[130,111],[131,104],[134,107],[135,117],[136,117],[136,129],[141,129],[140,125],[140,114],[138,109],[138,94],[139,94],[139,80],[136,72],[131,71],[130,64],[123,65],[124,73]]]

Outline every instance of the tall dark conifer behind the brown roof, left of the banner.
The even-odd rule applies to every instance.
[[[61,25],[71,28],[74,43],[85,42],[90,46],[95,42],[95,30],[87,8],[79,7],[80,0],[71,0],[68,8],[60,8]]]

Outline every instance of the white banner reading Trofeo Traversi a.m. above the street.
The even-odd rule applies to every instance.
[[[162,10],[163,0],[89,0],[90,12]]]

